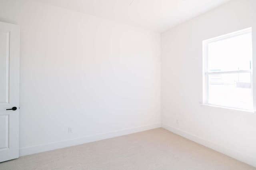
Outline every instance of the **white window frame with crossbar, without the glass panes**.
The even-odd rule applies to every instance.
[[[217,42],[220,40],[225,40],[228,38],[244,35],[244,34],[252,34],[252,28],[246,28],[244,30],[239,30],[236,32],[232,32],[229,34],[225,34],[222,36],[218,36],[215,38],[211,38],[208,40],[203,41],[203,105],[210,105],[210,106],[215,106],[215,107],[223,107],[223,108],[228,108],[228,109],[236,109],[236,110],[242,110],[242,111],[250,111],[254,112],[255,110],[255,100],[254,97],[254,86],[253,86],[253,56],[252,56],[252,62],[251,62],[251,69],[250,70],[238,70],[238,71],[208,71],[208,44],[212,42]],[[208,92],[209,92],[209,87],[208,87],[208,75],[216,75],[216,74],[229,74],[229,73],[250,73],[251,75],[251,88],[252,88],[252,100],[253,100],[253,110],[245,110],[245,109],[240,109],[239,107],[227,107],[224,105],[214,105],[212,103],[208,103]]]

